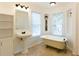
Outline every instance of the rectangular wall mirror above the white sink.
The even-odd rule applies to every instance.
[[[16,30],[17,29],[27,29],[28,12],[16,9],[15,23],[16,23]]]

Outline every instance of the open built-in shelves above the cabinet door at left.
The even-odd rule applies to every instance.
[[[0,14],[0,38],[13,35],[13,16]]]

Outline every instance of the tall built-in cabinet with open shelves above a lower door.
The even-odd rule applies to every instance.
[[[0,56],[13,55],[13,15],[0,14]]]

